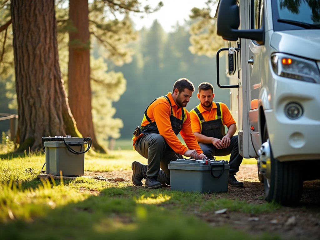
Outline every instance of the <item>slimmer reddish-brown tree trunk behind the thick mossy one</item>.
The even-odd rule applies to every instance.
[[[88,0],[69,0],[69,17],[76,28],[69,32],[68,98],[78,130],[91,137],[92,147],[105,150],[98,144],[92,122],[90,86],[90,33]]]

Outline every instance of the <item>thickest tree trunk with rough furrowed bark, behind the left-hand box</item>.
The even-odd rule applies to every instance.
[[[81,137],[61,78],[54,0],[11,0],[18,101],[18,151],[42,148],[42,137]]]

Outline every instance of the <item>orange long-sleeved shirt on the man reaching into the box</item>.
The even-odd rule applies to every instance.
[[[171,96],[171,92],[169,92],[167,96],[171,102],[173,116],[181,119],[182,108],[178,108],[177,104],[175,104]],[[160,135],[164,137],[164,140],[168,143],[168,145],[172,148],[174,152],[183,155],[188,149],[191,149],[191,150],[195,149],[198,154],[201,154],[203,153],[203,151],[201,150],[196,140],[196,137],[193,134],[191,129],[190,113],[187,111],[187,109],[184,109],[184,111],[185,111],[185,121],[182,124],[180,135],[185,141],[187,147],[180,142],[180,140],[172,130],[172,126],[170,122],[171,108],[168,100],[166,100],[164,97],[157,98],[148,107],[147,115],[150,118],[151,122],[156,121]],[[146,126],[148,124],[149,122],[146,116],[144,115],[141,126]]]

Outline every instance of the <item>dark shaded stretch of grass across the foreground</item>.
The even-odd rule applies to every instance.
[[[166,192],[106,188],[98,196],[89,196],[81,202],[54,209],[47,206],[42,217],[4,222],[0,225],[0,239],[279,239],[211,227],[179,209],[138,201],[156,199]]]

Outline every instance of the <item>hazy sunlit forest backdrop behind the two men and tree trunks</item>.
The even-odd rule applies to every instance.
[[[10,15],[6,9],[8,2],[10,4],[10,1],[1,0],[0,26],[4,26]],[[66,2],[55,1],[55,9],[59,64],[68,90],[68,31],[71,27],[68,26],[69,6]],[[214,20],[210,16],[214,12],[209,4],[212,5],[212,1],[208,1],[207,8],[202,11],[193,9],[191,18],[186,16],[188,20],[182,25],[177,23],[172,32],[165,32],[157,20],[150,28],[127,31],[126,40],[117,45],[124,53],[121,58],[110,55],[106,43],[100,41],[98,34],[92,33],[96,36],[90,38],[92,120],[101,146],[106,148],[110,139],[131,139],[148,104],[171,92],[173,83],[181,77],[192,81],[195,88],[204,81],[212,83],[214,100],[229,106],[229,89],[220,89],[216,83],[215,51],[223,47],[224,42],[214,36]],[[92,14],[95,10],[89,6],[89,11]],[[10,26],[8,29],[1,32],[0,38],[0,112],[17,114],[13,50],[10,50],[13,36]],[[224,64],[220,64],[220,68],[220,83],[226,84]],[[196,93],[197,90],[186,107],[189,111],[199,103]],[[78,108],[82,108],[81,102]],[[0,121],[0,131],[9,135],[10,121]]]

